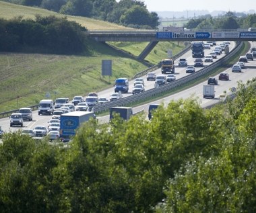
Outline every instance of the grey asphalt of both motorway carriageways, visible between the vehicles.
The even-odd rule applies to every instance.
[[[234,47],[234,42],[231,42],[230,44],[230,50]],[[205,50],[205,55],[207,55],[209,52],[212,52],[213,48],[211,50]],[[222,53],[221,56],[224,56],[224,53]],[[193,65],[193,60],[195,58],[192,58],[191,55],[191,50],[186,52],[185,54],[183,54],[183,56],[181,56],[181,58],[187,58],[188,61],[188,65]],[[218,58],[220,58],[220,56],[218,56]],[[175,61],[175,65],[177,65],[179,58]],[[216,60],[214,60],[216,61]],[[248,65],[251,65],[253,62],[249,62]],[[210,65],[210,62],[204,63],[205,65]],[[185,73],[185,69],[186,67],[178,67],[178,65],[175,68],[175,74],[177,79],[184,77],[185,75],[190,75],[188,73]],[[202,68],[196,68],[196,71],[199,71]],[[156,70],[156,74],[159,75],[160,74],[160,69]],[[228,71],[231,72],[231,71]],[[226,81],[219,81],[219,85],[216,86],[216,96],[218,97],[221,93],[223,93],[224,90],[228,90],[227,88],[230,87],[235,87],[236,86],[236,81],[238,81],[238,79],[241,79],[242,81],[246,81],[247,79],[251,79],[252,77],[254,77],[253,72],[251,72],[251,69],[246,69],[244,71],[244,73],[231,73],[230,74],[230,81],[226,82]],[[146,81],[146,77],[143,77],[143,79],[145,80],[145,88],[146,89],[152,89],[154,87],[154,81]],[[207,84],[207,83],[205,83]],[[127,95],[132,95],[131,94],[131,89],[133,87],[133,81],[129,82],[129,93],[127,94],[123,94],[123,97],[127,96]],[[158,103],[160,103],[161,101],[164,101],[165,104],[168,104],[168,102],[171,99],[179,99],[179,98],[186,98],[186,97],[190,97],[192,94],[195,94],[195,96],[198,96],[199,98],[201,98],[201,102],[202,105],[207,105],[210,104],[211,101],[219,101],[218,98],[211,100],[211,99],[203,99],[202,98],[202,88],[203,88],[203,83],[200,85],[197,85],[193,88],[187,89],[187,91],[183,91],[181,93],[177,93],[175,95],[171,95],[169,97],[164,98],[163,100],[159,100],[157,101]],[[110,89],[106,89],[104,91],[100,91],[98,92],[99,97],[109,97],[112,93],[114,92],[114,87],[110,88]],[[148,104],[146,105],[141,105],[137,108],[134,108],[133,112],[137,112],[144,109],[145,111],[147,111],[148,109]],[[101,118],[98,118],[100,120],[100,122],[107,122],[108,121],[108,117],[109,116],[103,116]],[[31,122],[24,122],[24,127],[23,128],[34,128],[34,126],[36,125],[44,125],[44,126],[48,126],[48,121],[51,119],[51,116],[38,116],[38,111],[33,112],[33,119]],[[15,132],[17,130],[20,129],[20,127],[9,127],[9,118],[3,118],[0,120],[0,126],[2,126],[3,130],[5,132]]]

